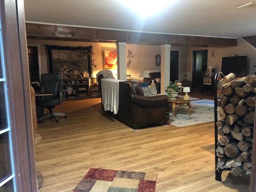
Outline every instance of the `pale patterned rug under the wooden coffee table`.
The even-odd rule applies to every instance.
[[[175,126],[182,127],[198,123],[214,121],[214,101],[208,99],[193,100],[190,102],[191,110],[188,116],[188,106],[176,105],[175,118],[172,118],[172,110],[170,111],[169,122]]]

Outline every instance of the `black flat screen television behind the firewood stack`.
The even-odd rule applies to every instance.
[[[247,56],[222,57],[221,72],[223,75],[230,73],[236,74],[237,77],[246,76]]]

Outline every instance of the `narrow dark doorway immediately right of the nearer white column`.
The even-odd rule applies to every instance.
[[[179,79],[179,51],[170,52],[170,81]]]

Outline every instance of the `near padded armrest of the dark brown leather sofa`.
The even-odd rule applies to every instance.
[[[166,102],[168,102],[168,98],[166,95],[157,95],[149,97],[135,94],[130,95],[133,103],[146,107],[155,107],[162,104],[166,104]]]

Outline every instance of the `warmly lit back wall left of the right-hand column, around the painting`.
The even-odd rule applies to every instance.
[[[96,74],[103,69],[103,50],[116,50],[116,44],[114,43],[93,43],[93,42],[71,42],[71,41],[52,41],[52,40],[34,40],[28,39],[28,45],[40,46],[40,58],[41,58],[41,72],[48,73],[48,62],[44,44],[58,45],[58,46],[93,46],[93,58],[95,59],[92,67],[92,74]],[[134,81],[141,80],[138,76],[142,70],[160,70],[160,66],[154,64],[154,56],[160,54],[160,46],[146,46],[146,45],[126,45],[127,55],[128,50],[132,51],[133,58],[131,58],[131,64],[129,68],[126,68],[126,74],[131,74]],[[128,63],[128,58],[126,58]],[[113,74],[116,74],[115,70],[112,70]]]

